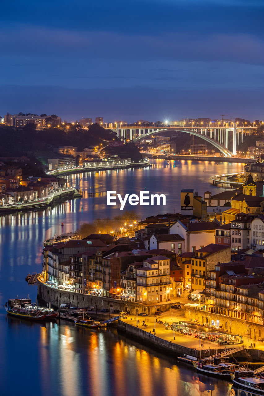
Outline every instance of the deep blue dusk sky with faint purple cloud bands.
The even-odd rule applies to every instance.
[[[3,0],[0,115],[263,119],[264,2]]]

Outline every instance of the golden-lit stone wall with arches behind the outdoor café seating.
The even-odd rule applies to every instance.
[[[202,311],[195,308],[186,308],[184,316],[187,320],[197,319],[199,323],[216,323],[219,320],[219,326],[222,330],[227,330],[230,333],[242,335],[247,337],[249,332],[249,341],[258,341],[264,337],[264,326],[257,323],[252,323],[247,320],[240,320],[231,318],[230,316],[213,314],[211,312]],[[221,327],[222,326],[222,327]]]

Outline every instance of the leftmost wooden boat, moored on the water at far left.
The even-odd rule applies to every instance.
[[[8,315],[14,316],[16,318],[33,321],[44,320],[46,318],[46,313],[37,309],[25,307],[24,305],[21,305],[21,300],[18,299],[9,299],[8,303],[6,303],[4,307]]]

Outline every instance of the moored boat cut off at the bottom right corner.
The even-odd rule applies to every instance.
[[[231,380],[239,388],[253,392],[253,394],[264,395],[264,379],[256,377],[252,370],[235,370],[231,374]]]

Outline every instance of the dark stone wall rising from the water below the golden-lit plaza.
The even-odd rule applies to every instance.
[[[162,338],[155,336],[153,333],[149,333],[144,331],[143,329],[139,329],[138,327],[132,326],[126,322],[122,322],[122,320],[118,321],[117,331],[126,335],[126,337],[130,337],[140,343],[142,345],[151,346],[154,349],[160,350],[166,354],[170,354],[174,357],[180,356],[181,354],[187,354],[190,356],[198,357],[208,357],[209,349],[192,349],[187,348],[183,345],[178,345],[175,343],[171,343],[170,341],[166,341]],[[221,352],[220,349],[210,349],[210,354],[214,355],[216,353]]]

